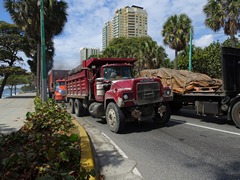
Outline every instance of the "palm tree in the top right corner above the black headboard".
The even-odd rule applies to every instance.
[[[205,25],[214,32],[224,29],[230,35],[232,47],[236,48],[234,35],[240,30],[240,0],[209,0],[203,7],[206,15]]]

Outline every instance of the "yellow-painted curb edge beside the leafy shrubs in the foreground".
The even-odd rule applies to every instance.
[[[94,156],[92,152],[91,143],[85,129],[72,118],[72,122],[78,127],[81,137],[81,166],[86,169],[87,172],[90,172],[92,169],[95,170],[97,176],[97,170],[94,162]],[[90,176],[90,180],[96,180],[97,177]]]

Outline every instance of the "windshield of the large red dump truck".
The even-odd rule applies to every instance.
[[[116,78],[111,78],[111,74],[116,73]],[[133,72],[132,67],[129,66],[112,66],[103,69],[103,77],[106,80],[109,79],[132,79]]]

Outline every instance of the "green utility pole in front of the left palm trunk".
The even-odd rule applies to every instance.
[[[46,73],[46,59],[45,59],[45,29],[44,29],[44,9],[43,0],[40,2],[40,18],[41,18],[41,57],[42,57],[42,101],[47,101],[47,73]],[[41,93],[41,92],[40,92]]]

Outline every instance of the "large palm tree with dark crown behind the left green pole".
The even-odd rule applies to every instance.
[[[4,8],[17,26],[37,43],[37,87],[40,94],[41,23],[38,0],[4,0]],[[44,0],[45,41],[59,35],[67,22],[67,3],[62,0]]]

